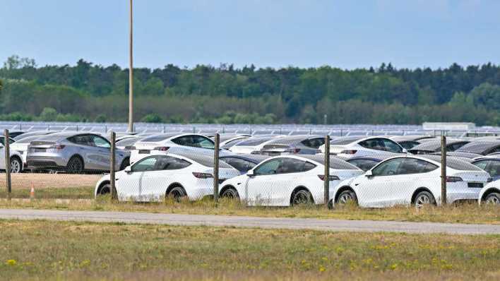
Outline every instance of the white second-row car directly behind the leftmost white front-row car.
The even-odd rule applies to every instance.
[[[143,157],[166,152],[172,147],[198,148],[212,150],[213,140],[198,133],[167,133],[148,136],[136,142],[131,149],[131,162],[137,162]]]

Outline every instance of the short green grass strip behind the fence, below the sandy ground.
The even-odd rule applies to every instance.
[[[30,198],[31,189],[13,189],[12,198]],[[7,191],[1,189],[0,198],[6,198]],[[39,199],[92,199],[94,198],[93,187],[72,187],[72,188],[46,188],[36,189],[35,198]]]

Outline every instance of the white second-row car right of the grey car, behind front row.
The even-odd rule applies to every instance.
[[[325,145],[320,147],[325,153]],[[330,154],[338,157],[352,157],[360,155],[374,155],[377,153],[406,153],[405,148],[395,141],[379,136],[373,137],[342,137],[330,142]]]

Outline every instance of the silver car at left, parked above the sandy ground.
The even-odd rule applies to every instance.
[[[105,172],[109,171],[110,147],[109,140],[97,133],[52,133],[30,143],[26,162],[32,170]],[[117,150],[116,162],[116,169],[125,169],[130,153]]]

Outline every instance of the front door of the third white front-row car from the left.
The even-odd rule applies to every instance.
[[[395,188],[393,177],[405,158],[386,160],[371,169],[370,177],[357,177],[352,181],[359,205],[363,207],[385,207],[389,205]]]

